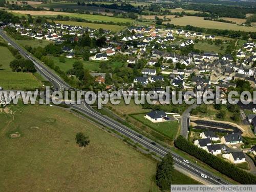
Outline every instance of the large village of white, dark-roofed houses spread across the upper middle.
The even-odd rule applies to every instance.
[[[95,29],[58,23],[45,24],[41,27],[31,24],[29,28],[25,28],[19,24],[13,25],[10,23],[8,25],[14,27],[21,35],[37,39],[45,38],[56,44],[61,44],[67,40],[63,38],[65,34],[74,35],[73,38],[69,39],[71,42],[78,41],[78,37],[86,32],[91,37],[95,37],[95,34],[97,34],[97,30]],[[254,42],[248,41],[244,43],[241,49],[237,51],[236,56],[228,54],[219,56],[217,53],[189,53],[186,56],[181,56],[175,53],[168,53],[165,50],[167,44],[168,46],[172,46],[170,41],[174,41],[175,36],[198,37],[200,39],[215,39],[215,36],[189,32],[182,29],[162,29],[159,27],[131,27],[129,31],[133,35],[125,36],[122,32],[116,33],[121,39],[117,41],[111,40],[111,37],[114,36],[111,34],[111,31],[104,30],[108,44],[104,47],[99,47],[97,50],[91,49],[90,53],[93,56],[90,57],[90,60],[109,60],[109,57],[113,57],[116,54],[123,54],[129,56],[127,64],[135,64],[140,58],[144,58],[148,61],[148,68],[143,69],[142,77],[134,78],[134,83],[140,82],[143,85],[154,83],[155,81],[163,81],[162,76],[156,76],[156,74],[153,75],[151,72],[146,72],[154,68],[154,65],[162,58],[161,72],[169,75],[170,84],[175,87],[197,85],[205,89],[211,85],[219,85],[223,91],[226,91],[230,86],[235,86],[229,83],[229,81],[237,79],[248,81],[252,88],[256,87],[256,68],[253,65],[256,61],[256,43]],[[184,41],[178,41],[178,46],[185,47],[195,43],[188,38]],[[136,42],[137,46],[128,41]],[[124,44],[126,47],[125,50],[122,50],[121,47]],[[151,53],[147,52],[147,48],[152,50]],[[69,47],[63,47],[62,51],[66,53],[67,58],[75,57],[74,51]],[[239,59],[236,60],[233,57]],[[169,63],[173,63],[175,67],[172,69],[169,68]],[[185,66],[185,69],[176,68],[177,63]],[[191,74],[195,74],[196,79],[187,81]]]

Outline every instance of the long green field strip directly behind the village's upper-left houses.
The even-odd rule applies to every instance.
[[[60,23],[63,25],[73,25],[73,26],[82,26],[82,27],[89,27],[92,29],[105,29],[105,30],[112,30],[112,31],[121,31],[125,29],[125,26],[116,26],[116,25],[105,25],[105,24],[97,24],[97,23],[90,23],[90,22],[75,22],[75,21],[60,21],[55,20],[55,23]]]

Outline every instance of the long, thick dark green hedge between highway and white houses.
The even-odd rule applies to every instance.
[[[220,157],[207,153],[205,150],[198,148],[181,135],[175,140],[175,146],[241,184],[256,183],[256,176],[239,169],[234,164],[224,161]]]

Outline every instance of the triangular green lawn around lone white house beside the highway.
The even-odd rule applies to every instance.
[[[163,134],[164,136],[174,139],[176,137],[179,123],[178,121],[169,121],[161,123],[152,123],[150,120],[144,117],[145,114],[134,114],[132,117],[137,119],[139,122],[143,122],[144,125],[154,129],[155,131]]]

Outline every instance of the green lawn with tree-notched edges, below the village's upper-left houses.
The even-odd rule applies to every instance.
[[[98,71],[99,70],[99,62],[94,62],[94,61],[83,61],[82,59],[70,59],[70,58],[65,58],[65,63],[59,62],[58,57],[51,57],[51,59],[54,60],[54,64],[59,66],[62,71],[67,71],[71,68],[73,68],[73,64],[76,61],[81,61],[83,63],[83,67],[86,69],[89,69],[90,71]]]

